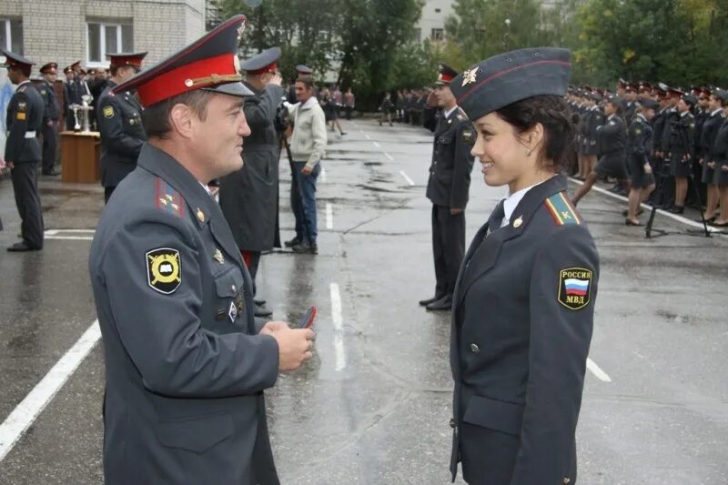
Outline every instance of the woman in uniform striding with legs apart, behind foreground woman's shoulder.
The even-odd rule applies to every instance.
[[[622,117],[619,116],[619,100],[615,97],[607,98],[604,104],[604,114],[607,116],[604,125],[599,127],[598,141],[599,162],[593,168],[586,180],[576,190],[573,203],[576,205],[584,197],[600,176],[614,177],[622,185],[624,193],[630,191],[629,174],[627,173],[627,128]]]

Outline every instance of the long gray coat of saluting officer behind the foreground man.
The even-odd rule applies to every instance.
[[[258,91],[245,99],[251,134],[244,140],[245,165],[220,180],[220,207],[238,248],[267,251],[276,240],[278,216],[278,159],[280,146],[273,120],[283,97],[280,86]]]

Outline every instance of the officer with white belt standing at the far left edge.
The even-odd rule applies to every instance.
[[[37,136],[43,127],[43,98],[29,79],[35,63],[5,49],[0,49],[0,53],[5,56],[8,79],[17,85],[7,106],[5,164],[10,168],[13,180],[15,206],[22,220],[20,235],[23,238],[7,250],[37,251],[43,248],[43,213],[36,175],[42,157]]]

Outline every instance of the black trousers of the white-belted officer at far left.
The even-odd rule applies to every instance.
[[[43,212],[38,195],[38,162],[15,163],[10,171],[15,206],[22,221],[20,235],[32,248],[43,248]]]

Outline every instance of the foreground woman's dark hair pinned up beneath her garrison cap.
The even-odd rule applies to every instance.
[[[559,96],[533,96],[501,107],[496,111],[506,123],[512,125],[517,135],[529,131],[541,123],[543,142],[538,159],[543,167],[560,172],[569,162],[570,150],[574,149],[574,119],[566,100]],[[553,165],[551,165],[551,163]]]

